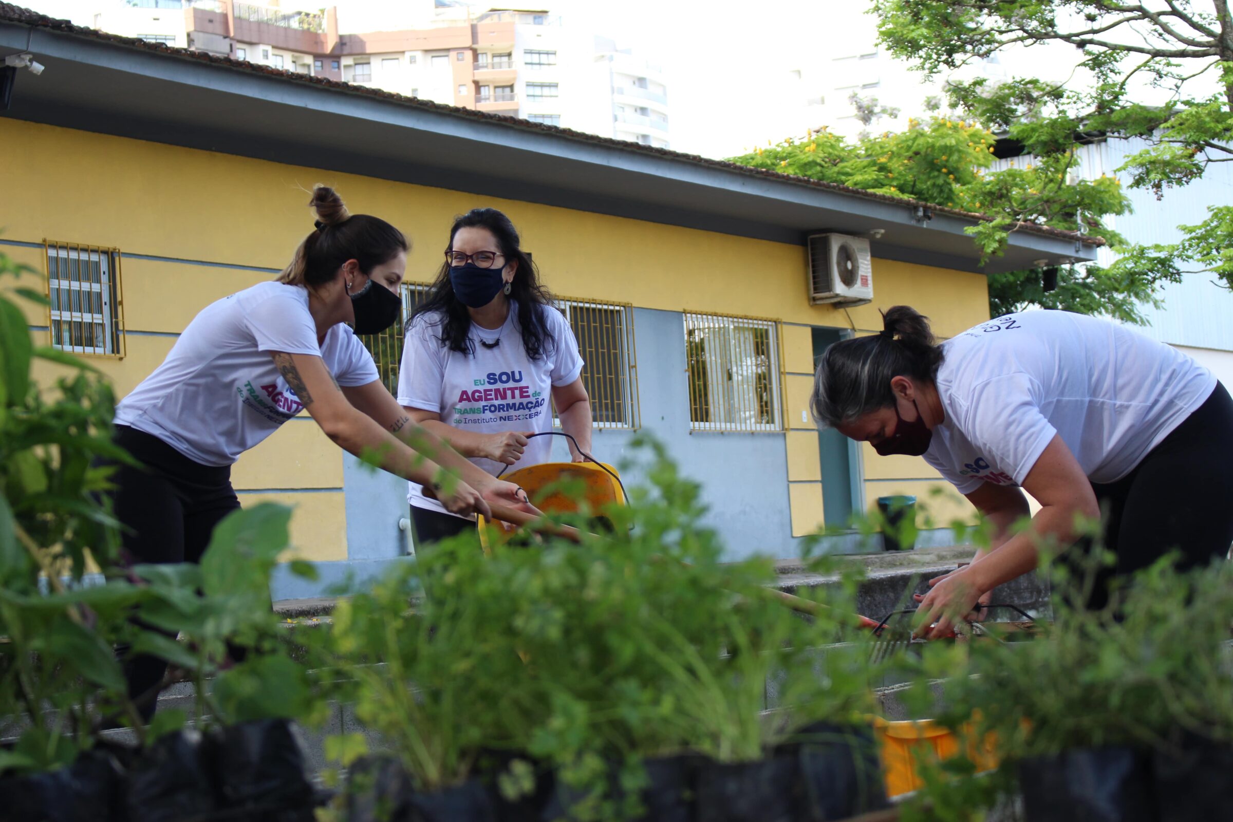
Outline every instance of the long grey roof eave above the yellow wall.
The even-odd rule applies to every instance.
[[[949,210],[931,207],[932,218],[920,219],[911,201],[180,49],[0,22],[0,53],[27,49],[47,70],[18,78],[7,113],[25,120],[774,242],[882,229],[877,256],[958,270],[1095,258],[1090,242],[1032,227],[981,266],[964,232],[977,218]],[[358,137],[363,150],[348,148]]]

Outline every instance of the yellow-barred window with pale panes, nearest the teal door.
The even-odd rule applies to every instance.
[[[683,317],[689,428],[783,430],[778,323],[726,314]]]

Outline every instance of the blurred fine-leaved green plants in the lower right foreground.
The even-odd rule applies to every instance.
[[[1063,589],[1044,641],[974,648],[975,677],[953,680],[948,696],[978,710],[1015,757],[1161,747],[1180,730],[1233,742],[1233,668],[1222,649],[1231,583],[1228,563],[1179,573],[1166,558],[1105,610],[1080,610]]]

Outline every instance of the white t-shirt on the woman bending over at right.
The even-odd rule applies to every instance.
[[[1007,314],[942,349],[946,421],[925,460],[963,494],[1022,484],[1054,434],[1091,482],[1121,479],[1216,387],[1176,349],[1063,311]]]

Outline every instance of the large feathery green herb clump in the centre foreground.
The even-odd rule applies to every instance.
[[[490,556],[462,535],[335,611],[335,694],[418,790],[461,785],[499,751],[522,763],[499,779],[506,792],[544,763],[576,791],[572,815],[626,818],[647,758],[758,759],[866,705],[864,667],[835,662],[820,678],[813,651],[848,611],[804,620],[766,595],[768,561],[723,563],[698,486],[644,445],[650,483],[629,507],[561,518],[587,529],[599,513],[607,532],[496,542]],[[768,678],[790,706],[769,718]],[[355,735],[333,746],[346,762],[367,749]]]

